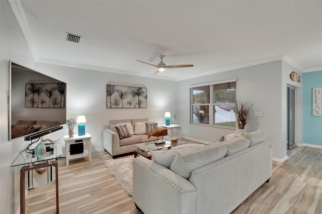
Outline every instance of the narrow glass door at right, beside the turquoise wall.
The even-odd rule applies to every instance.
[[[287,86],[287,151],[295,147],[295,88]]]

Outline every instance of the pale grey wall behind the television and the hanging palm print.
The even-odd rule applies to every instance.
[[[8,141],[9,60],[67,83],[67,118],[76,118],[78,115],[86,116],[86,132],[93,136],[92,149],[103,148],[102,131],[110,120],[149,118],[150,121],[165,124],[165,112],[174,113],[177,110],[177,94],[175,93],[177,82],[35,63],[8,2],[0,1],[0,9],[0,210],[1,213],[16,213],[20,205],[20,167],[10,167],[10,165],[29,142],[23,141],[22,138]],[[129,85],[145,85],[147,87],[147,108],[135,110],[106,109],[106,84],[111,81]],[[77,127],[75,132],[77,132]],[[65,144],[62,139],[67,134],[67,126],[64,125],[62,130],[46,137],[54,140],[60,138],[64,147]]]

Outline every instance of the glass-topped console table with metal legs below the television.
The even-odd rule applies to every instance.
[[[46,144],[45,144],[46,145]],[[48,146],[48,145],[47,145]],[[59,199],[58,199],[58,161],[63,158],[61,146],[59,143],[50,143],[52,151],[46,152],[45,157],[37,158],[34,154],[28,154],[22,151],[11,166],[25,165],[20,169],[20,213],[25,214],[25,182],[26,173],[28,174],[28,188],[34,188],[33,185],[33,170],[47,167],[47,183],[56,183],[56,213],[59,213]],[[55,180],[52,178],[52,167],[55,167]],[[47,184],[44,183],[44,184]]]

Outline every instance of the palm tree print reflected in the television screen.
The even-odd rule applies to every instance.
[[[26,83],[25,108],[65,108],[66,83]]]

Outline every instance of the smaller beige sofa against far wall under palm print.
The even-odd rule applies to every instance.
[[[138,123],[138,124],[137,124]],[[127,124],[127,128],[130,131],[131,136],[120,139],[120,136],[115,129],[115,126]],[[146,142],[155,141],[158,138],[151,136],[148,138],[147,125],[154,124],[154,122],[149,122],[148,118],[143,119],[125,119],[125,120],[111,120],[110,124],[106,126],[103,130],[103,147],[104,149],[112,155],[114,158],[116,155],[126,154],[133,152],[135,150],[134,144],[140,145],[145,144]],[[136,126],[137,125],[137,126]],[[140,129],[139,127],[140,126]],[[132,127],[132,128],[131,128]],[[144,128],[144,129],[143,129]],[[157,125],[154,126],[157,130],[162,129]],[[152,132],[152,130],[149,130]],[[159,139],[161,139],[159,137]]]

